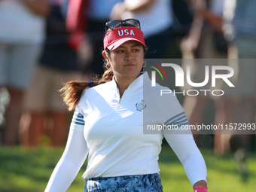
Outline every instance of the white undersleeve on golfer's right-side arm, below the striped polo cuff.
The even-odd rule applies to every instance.
[[[206,181],[206,163],[192,134],[164,134],[164,137],[184,166],[192,187],[197,181]]]

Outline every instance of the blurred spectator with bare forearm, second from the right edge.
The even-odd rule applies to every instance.
[[[191,81],[203,82],[206,66],[222,65],[223,63],[216,62],[214,59],[227,59],[227,41],[222,31],[224,1],[196,0],[191,1],[190,6],[194,10],[194,20],[189,35],[181,41],[182,66],[184,69],[187,65],[190,66],[191,71],[193,71],[191,72],[193,74]],[[224,63],[224,65],[227,64]],[[190,85],[184,88],[186,90],[192,89]],[[193,87],[193,90],[212,90],[212,87],[208,83],[204,87]],[[183,107],[191,125],[203,123],[210,99],[209,95],[204,96],[203,92],[200,92],[198,96],[184,97]],[[198,144],[200,133],[197,131],[194,131],[194,139]]]

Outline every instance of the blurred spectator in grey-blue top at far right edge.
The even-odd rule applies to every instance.
[[[233,0],[227,1],[224,13],[227,21],[224,26],[225,36],[232,45],[229,58],[230,65],[236,67],[235,88],[226,88],[226,96],[221,98],[218,105],[218,123],[252,124],[255,115],[256,96],[256,1]],[[232,134],[232,135],[231,135]],[[215,151],[224,154],[226,151],[250,150],[251,135],[254,130],[233,130],[231,134],[219,135],[215,139]],[[237,135],[233,135],[237,134]]]

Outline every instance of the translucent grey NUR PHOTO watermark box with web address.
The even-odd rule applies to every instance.
[[[237,119],[237,122],[217,123],[218,121],[215,122],[214,117],[211,117],[212,121],[190,125],[186,114],[191,113],[195,103],[190,102],[190,107],[184,108],[184,114],[181,114],[181,105],[186,98],[197,97],[203,102],[212,100],[212,103],[216,103],[221,99],[255,96],[256,75],[248,74],[256,71],[256,59],[145,59],[145,62],[147,65],[143,71],[151,78],[151,92],[144,90],[143,103],[147,105],[143,114],[144,133],[255,133],[255,123]],[[169,105],[168,98],[174,97],[181,103],[180,108],[175,104]],[[214,116],[215,106],[210,113],[204,112],[200,115]],[[168,123],[168,120],[172,123]]]

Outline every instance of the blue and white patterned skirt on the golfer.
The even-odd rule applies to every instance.
[[[128,175],[111,178],[89,178],[84,192],[163,192],[160,176]]]

